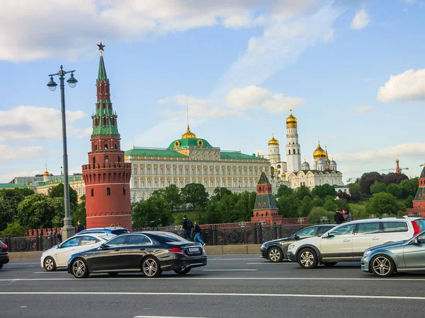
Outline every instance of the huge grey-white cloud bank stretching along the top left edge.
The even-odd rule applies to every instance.
[[[290,18],[315,0],[21,0],[0,11],[0,60],[75,59],[99,39],[144,40],[193,28],[250,28]],[[258,16],[258,13],[265,16]],[[66,14],[64,14],[66,13]],[[257,13],[257,15],[256,15]],[[66,34],[67,36],[63,36]]]

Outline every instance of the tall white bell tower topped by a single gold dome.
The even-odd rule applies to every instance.
[[[301,150],[298,143],[298,120],[292,114],[286,119],[286,170],[287,173],[299,171],[301,169]]]

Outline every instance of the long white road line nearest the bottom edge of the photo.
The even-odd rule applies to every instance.
[[[237,297],[297,297],[297,298],[360,298],[390,300],[425,300],[425,297],[376,296],[376,295],[305,295],[305,294],[259,294],[259,293],[146,293],[146,292],[0,292],[0,295],[147,295],[147,296],[237,296]]]

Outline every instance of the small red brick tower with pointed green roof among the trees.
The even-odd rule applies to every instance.
[[[265,168],[261,172],[259,182],[256,185],[256,200],[254,206],[254,216],[252,222],[265,221],[267,225],[282,224],[282,217],[276,207],[276,201],[271,193],[271,184],[268,182]]]

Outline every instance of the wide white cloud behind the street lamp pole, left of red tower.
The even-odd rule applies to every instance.
[[[86,115],[81,111],[67,110],[67,134],[82,138],[90,135],[91,129],[78,129],[72,123]],[[6,140],[59,140],[62,138],[60,110],[47,107],[18,106],[0,110],[0,141]]]

